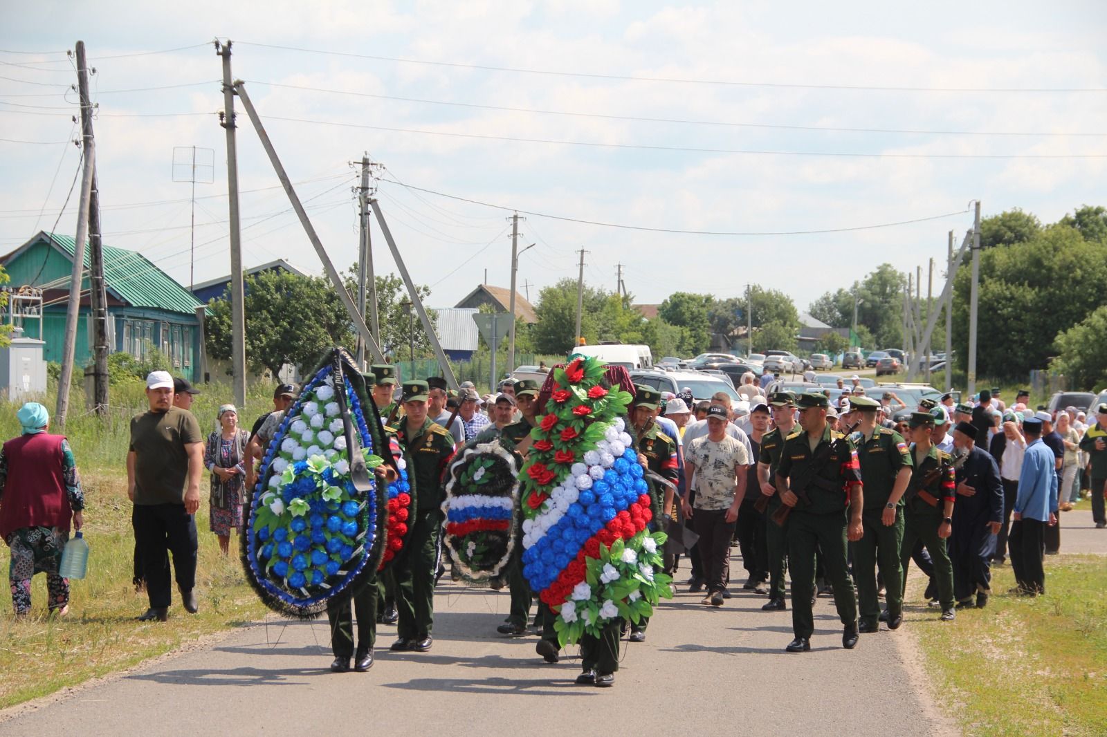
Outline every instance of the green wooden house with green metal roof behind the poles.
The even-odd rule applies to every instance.
[[[24,323],[24,335],[45,341],[45,359],[61,363],[65,309],[71,298],[75,241],[72,236],[39,231],[11,253],[0,257],[11,281],[9,287],[42,290],[41,334],[38,321]],[[84,251],[85,277],[81,282],[81,309],[76,332],[76,365],[92,360],[89,339],[89,249]],[[145,359],[158,349],[173,361],[174,373],[199,381],[200,330],[192,292],[154,266],[142,253],[104,246],[104,282],[107,290],[107,343],[113,352]]]

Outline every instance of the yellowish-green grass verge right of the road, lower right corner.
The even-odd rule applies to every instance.
[[[1010,565],[993,569],[992,585],[1014,587]],[[953,623],[924,615],[911,624],[934,693],[966,735],[1107,734],[1105,559],[1047,558],[1046,590],[994,595]]]

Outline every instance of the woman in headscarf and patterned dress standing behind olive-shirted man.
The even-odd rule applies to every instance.
[[[238,426],[232,404],[219,407],[219,429],[208,435],[204,465],[211,471],[210,527],[219,538],[219,550],[230,552],[230,528],[242,533],[244,450],[250,434]]]

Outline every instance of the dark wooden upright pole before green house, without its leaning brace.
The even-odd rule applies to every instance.
[[[76,42],[77,96],[81,98],[82,136],[94,141],[92,103],[89,100],[89,64],[84,41]],[[80,71],[84,70],[82,76]],[[100,190],[96,166],[92,167],[92,190],[89,193],[89,304],[92,308],[93,406],[97,415],[107,411],[107,288],[104,284],[104,246],[100,240]]]

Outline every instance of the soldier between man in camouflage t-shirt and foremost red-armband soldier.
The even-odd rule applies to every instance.
[[[796,427],[796,395],[792,392],[775,392],[769,396],[773,407],[773,423],[776,427],[762,437],[757,457],[757,481],[762,495],[768,497],[765,507],[765,543],[768,548],[768,603],[762,606],[767,612],[784,611],[784,574],[788,568],[788,541],[785,538],[787,522],[782,527],[769,521],[769,517],[780,506],[776,494],[776,468],[780,465],[780,453],[785,439]],[[747,491],[752,495],[752,491]]]

